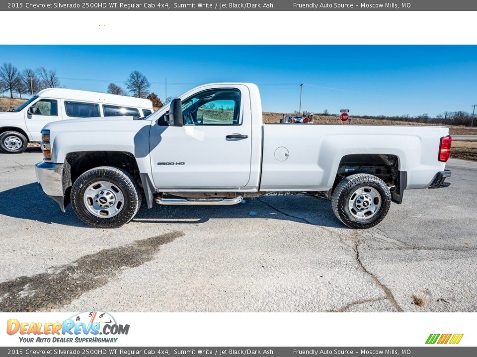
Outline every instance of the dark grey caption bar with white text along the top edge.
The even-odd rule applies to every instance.
[[[474,11],[469,0],[342,0],[342,1],[75,1],[30,0],[1,2],[5,11]]]

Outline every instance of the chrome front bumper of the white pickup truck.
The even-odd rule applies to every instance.
[[[65,212],[63,190],[63,164],[40,162],[35,165],[36,179],[43,192],[55,200]]]

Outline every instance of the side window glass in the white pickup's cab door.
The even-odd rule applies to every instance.
[[[185,125],[240,125],[240,91],[217,88],[182,102]]]

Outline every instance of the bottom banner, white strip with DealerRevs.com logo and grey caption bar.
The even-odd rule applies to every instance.
[[[2,312],[0,356],[476,356],[474,315]]]

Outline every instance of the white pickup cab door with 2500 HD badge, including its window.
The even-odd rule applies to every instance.
[[[165,125],[162,116],[150,131],[156,186],[172,190],[245,186],[252,143],[248,89],[237,85],[186,95],[182,112],[182,127]]]

